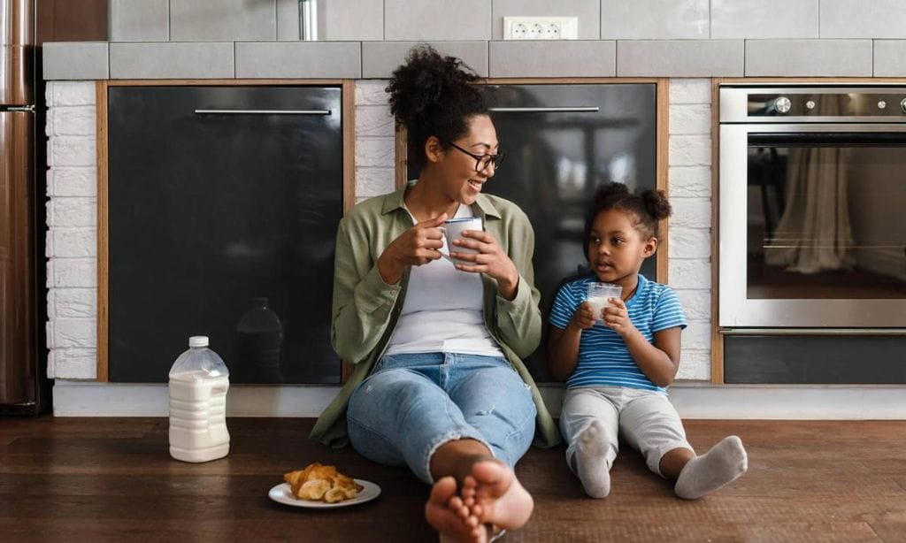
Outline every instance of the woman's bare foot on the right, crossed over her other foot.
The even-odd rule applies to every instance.
[[[516,479],[516,473],[496,460],[473,464],[460,493],[473,516],[497,529],[522,527],[535,509],[535,500]]]

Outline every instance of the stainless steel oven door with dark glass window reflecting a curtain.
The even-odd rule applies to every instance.
[[[906,131],[899,130],[721,127],[728,143],[721,263],[729,245],[735,262],[721,266],[720,281],[733,285],[728,299],[737,304],[722,326],[906,325]],[[725,170],[725,156],[735,173]],[[737,179],[726,202],[725,173]]]

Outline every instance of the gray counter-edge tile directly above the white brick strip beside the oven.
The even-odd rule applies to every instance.
[[[621,40],[621,77],[737,77],[743,74],[742,40]]]

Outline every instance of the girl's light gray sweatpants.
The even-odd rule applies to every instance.
[[[648,469],[659,475],[660,459],[665,453],[677,448],[692,449],[667,395],[626,386],[570,388],[564,394],[560,431],[568,443],[566,464],[573,471],[576,439],[593,421],[598,421],[606,442],[608,470],[617,457],[617,436],[621,433],[626,443],[645,457]]]

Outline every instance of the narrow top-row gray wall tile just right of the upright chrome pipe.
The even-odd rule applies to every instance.
[[[318,18],[320,40],[384,39],[383,0],[319,0]]]

